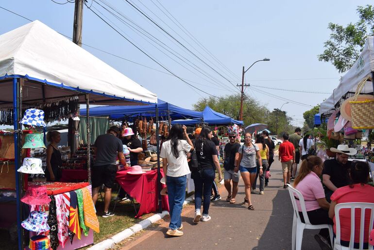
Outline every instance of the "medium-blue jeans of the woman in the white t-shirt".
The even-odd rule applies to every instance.
[[[187,176],[171,177],[166,176],[168,186],[170,224],[172,230],[178,229],[182,224],[182,207],[186,197]]]

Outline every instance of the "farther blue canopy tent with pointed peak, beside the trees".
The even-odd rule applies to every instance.
[[[223,125],[223,124],[238,124],[243,125],[243,121],[237,121],[234,120],[231,117],[228,117],[226,115],[223,115],[221,113],[218,113],[211,109],[209,106],[206,106],[203,110],[203,116],[204,116],[204,123],[210,124],[210,125]],[[174,120],[171,122],[171,124],[183,124],[183,125],[194,125],[198,124],[201,121],[199,120]]]

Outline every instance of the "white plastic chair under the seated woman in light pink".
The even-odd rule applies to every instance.
[[[292,201],[292,207],[293,207],[293,224],[292,224],[292,250],[301,250],[301,244],[303,241],[303,233],[304,229],[323,229],[327,228],[330,234],[330,240],[331,240],[331,246],[333,245],[333,230],[332,225],[329,224],[321,224],[321,225],[312,225],[310,224],[309,217],[306,214],[306,207],[305,207],[305,200],[303,195],[297,191],[295,188],[293,188],[290,184],[287,184],[289,187],[289,197]],[[303,223],[301,221],[300,215],[299,215],[299,209],[297,208],[297,203],[295,199],[295,194],[297,195],[301,211],[303,213],[304,221]]]

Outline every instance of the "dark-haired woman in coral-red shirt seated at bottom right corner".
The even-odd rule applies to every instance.
[[[365,162],[354,162],[349,173],[352,184],[343,186],[335,190],[331,196],[331,206],[328,214],[334,219],[334,233],[336,233],[335,225],[335,205],[346,202],[368,202],[374,203],[374,187],[368,185],[369,181],[369,165]],[[340,210],[340,245],[348,247],[351,236],[351,210]],[[359,210],[355,215],[355,243],[354,247],[359,248],[360,236],[360,216]],[[365,213],[364,229],[364,248],[368,249],[370,211]],[[361,225],[361,228],[363,225]]]

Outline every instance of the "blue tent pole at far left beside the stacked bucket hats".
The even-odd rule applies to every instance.
[[[20,148],[19,148],[19,140],[20,140],[20,133],[18,131],[18,120],[19,120],[19,106],[18,106],[18,98],[19,98],[19,79],[13,78],[13,126],[14,126],[14,161],[15,167],[20,166]],[[16,206],[17,206],[17,238],[18,238],[18,249],[23,249],[22,246],[22,227],[21,227],[21,203],[20,203],[20,195],[21,195],[21,187],[19,186],[19,172],[16,171]]]

